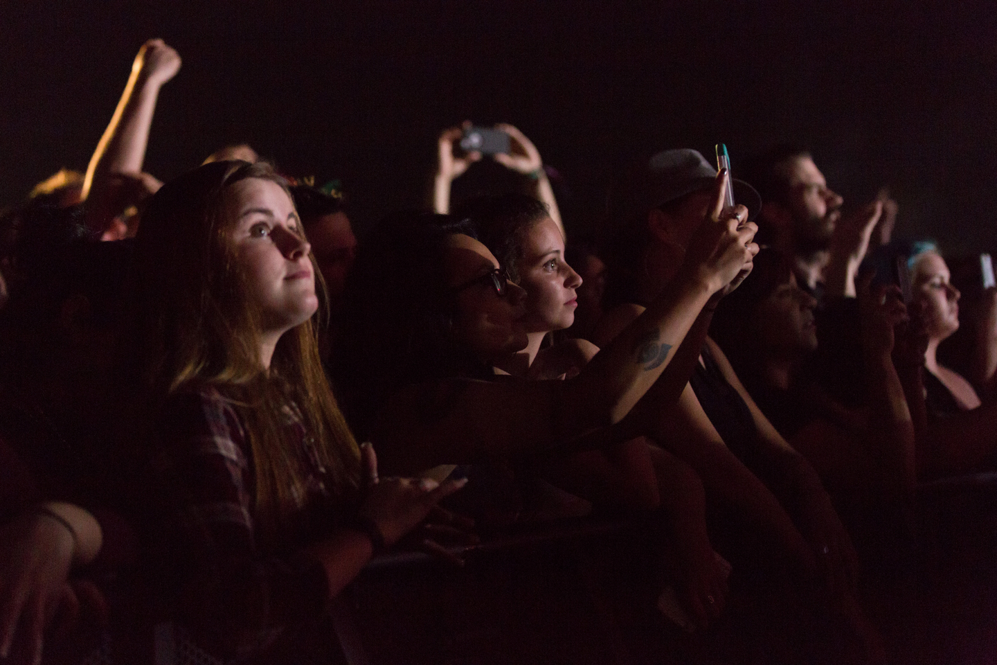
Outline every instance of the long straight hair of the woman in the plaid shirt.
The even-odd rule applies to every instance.
[[[262,317],[246,297],[223,201],[225,190],[246,178],[287,191],[266,164],[218,162],[167,183],[150,200],[130,274],[125,385],[144,395],[147,423],[178,392],[211,387],[230,400],[252,456],[255,516],[276,534],[306,496],[307,471],[291,448],[297,442],[288,441],[288,408],[300,412],[334,496],[355,497],[360,456],[322,369],[317,327],[327,307],[310,254],[319,311],[281,336],[268,372],[260,364]]]

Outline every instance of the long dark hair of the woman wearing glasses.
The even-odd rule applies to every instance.
[[[448,215],[398,212],[357,252],[330,369],[361,438],[384,401],[404,386],[478,374],[451,335],[454,297],[444,247],[454,233],[474,230]]]

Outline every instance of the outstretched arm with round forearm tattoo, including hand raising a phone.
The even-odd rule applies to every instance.
[[[454,379],[401,391],[382,410],[372,439],[392,473],[419,473],[564,446],[619,423],[670,367],[674,349],[717,291],[751,263],[756,226],[716,205],[692,239],[678,276],[579,375],[526,383]],[[735,212],[746,214],[743,206]]]

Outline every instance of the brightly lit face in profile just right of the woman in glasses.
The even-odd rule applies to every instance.
[[[522,237],[518,262],[519,286],[526,291],[526,332],[563,330],[574,323],[578,306],[575,289],[581,277],[564,262],[564,236],[557,223],[546,217],[530,226]]]

